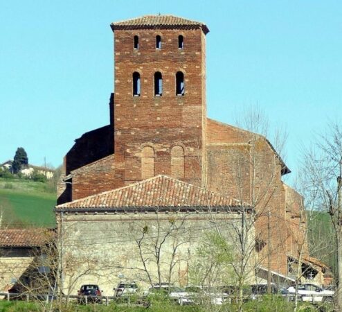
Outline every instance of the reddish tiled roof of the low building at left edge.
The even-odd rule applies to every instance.
[[[39,247],[53,239],[54,230],[46,228],[0,229],[0,247]]]

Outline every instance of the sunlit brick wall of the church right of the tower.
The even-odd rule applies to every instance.
[[[280,160],[260,135],[208,119],[208,188],[250,202],[257,212],[260,265],[287,274],[285,190]]]

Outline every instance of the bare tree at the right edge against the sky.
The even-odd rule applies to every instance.
[[[330,123],[303,153],[306,196],[310,207],[326,211],[332,220],[337,250],[337,310],[342,310],[342,128]]]

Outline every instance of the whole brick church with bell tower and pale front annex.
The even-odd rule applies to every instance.
[[[206,229],[231,244],[244,238],[246,283],[257,271],[294,281],[300,254],[303,279],[323,284],[327,267],[309,257],[303,198],[282,182],[291,172],[285,162],[266,137],[206,114],[208,26],[147,15],[111,30],[109,125],[75,140],[57,190],[68,287],[102,283],[109,292],[141,272],[147,282],[186,284]],[[155,245],[161,232],[170,233],[169,258],[151,262],[139,240],[150,235]]]

